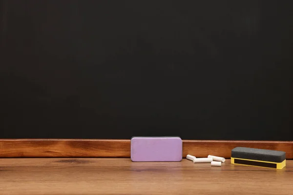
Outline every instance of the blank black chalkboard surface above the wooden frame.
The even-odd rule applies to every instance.
[[[292,0],[1,0],[0,137],[293,140]]]

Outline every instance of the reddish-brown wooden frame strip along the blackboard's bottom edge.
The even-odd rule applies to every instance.
[[[293,141],[183,140],[183,157],[230,157],[237,146],[279,150],[293,158]],[[126,139],[0,139],[0,157],[130,157]]]

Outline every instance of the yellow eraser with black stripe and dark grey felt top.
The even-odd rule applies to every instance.
[[[276,150],[236,147],[231,151],[231,164],[283,169],[286,153]]]

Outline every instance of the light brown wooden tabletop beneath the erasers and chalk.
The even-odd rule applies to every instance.
[[[0,158],[1,195],[289,195],[293,160],[282,170],[130,158]]]

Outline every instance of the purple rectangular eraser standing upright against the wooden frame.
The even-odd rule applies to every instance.
[[[180,137],[132,137],[131,160],[181,161],[182,139]]]

